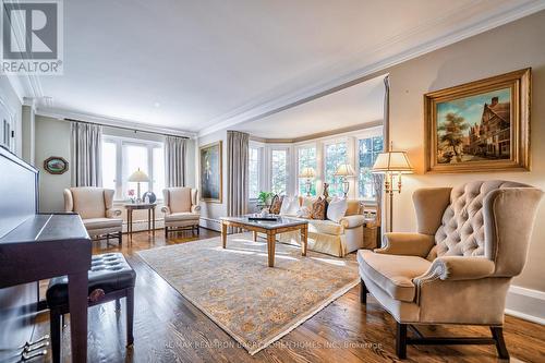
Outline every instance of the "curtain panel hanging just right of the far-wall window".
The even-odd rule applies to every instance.
[[[185,144],[186,140],[167,136],[165,140],[165,185],[185,186]]]

